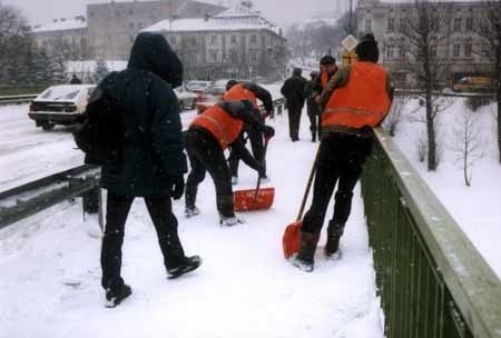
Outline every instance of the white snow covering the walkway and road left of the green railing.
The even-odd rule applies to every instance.
[[[193,117],[184,112],[184,125]],[[98,226],[95,219],[82,221],[80,201],[0,230],[0,337],[383,337],[358,188],[342,260],[323,258],[325,233],[314,274],[293,268],[282,256],[283,230],[295,220],[318,145],[310,142],[305,117],[302,140],[295,143],[284,116],[272,122],[272,209],[243,212],[244,225],[219,228],[209,177],[199,187],[202,215],[185,219],[183,200],[174,202],[187,255],[204,259],[189,276],[166,279],[151,221],[144,202],[136,200],[126,226],[122,267],[134,294],[116,309],[102,307]],[[12,123],[14,132],[8,137],[2,128],[1,151],[8,152],[0,153],[2,177],[35,177],[29,163],[39,163],[41,171],[51,162],[57,171],[65,158],[68,167],[80,163],[66,130],[43,132],[30,121],[26,125],[26,116],[0,113],[0,119]],[[24,135],[33,139],[24,150],[9,148],[16,147],[14,140],[6,145]],[[242,165],[236,189],[252,188],[255,180],[256,173]]]

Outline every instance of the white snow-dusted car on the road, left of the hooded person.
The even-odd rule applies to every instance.
[[[95,84],[49,87],[31,102],[28,116],[43,130],[52,130],[56,125],[71,126],[86,110],[95,88]]]

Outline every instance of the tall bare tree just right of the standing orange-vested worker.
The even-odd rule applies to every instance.
[[[449,62],[440,56],[448,54],[450,34],[450,4],[415,0],[413,10],[400,27],[400,48],[407,67],[415,78],[415,84],[423,90],[428,137],[428,170],[439,165],[436,157],[436,130],[434,120],[443,110],[440,96],[433,95],[449,74]],[[443,50],[444,52],[439,52]]]

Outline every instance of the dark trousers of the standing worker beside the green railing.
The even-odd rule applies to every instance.
[[[345,133],[324,133],[316,161],[313,200],[303,219],[305,232],[320,232],[337,182],[333,223],[346,222],[352,209],[353,188],[371,153],[372,139]]]

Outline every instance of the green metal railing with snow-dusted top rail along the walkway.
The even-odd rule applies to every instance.
[[[501,282],[391,137],[362,195],[389,338],[501,337]]]

